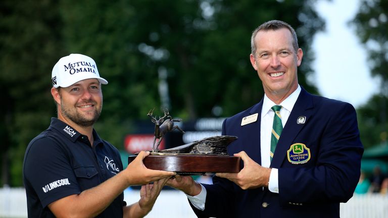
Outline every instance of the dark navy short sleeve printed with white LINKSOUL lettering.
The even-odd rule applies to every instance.
[[[43,207],[81,192],[71,167],[70,154],[55,139],[37,138],[26,152],[25,185],[35,191]]]

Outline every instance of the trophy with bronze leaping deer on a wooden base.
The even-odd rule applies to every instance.
[[[153,116],[154,110],[147,115],[155,124],[153,149],[143,159],[144,166],[152,170],[172,171],[180,175],[205,175],[206,173],[238,173],[240,157],[230,156],[226,147],[237,139],[236,136],[213,136],[193,141],[178,147],[159,150],[159,144],[165,134],[177,129],[184,133],[174,122],[168,110],[159,119]],[[158,139],[158,142],[156,141]],[[136,155],[128,157],[130,163]]]

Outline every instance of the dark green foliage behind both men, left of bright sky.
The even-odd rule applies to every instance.
[[[23,1],[0,3],[0,152],[2,181],[22,185],[29,141],[56,117],[51,70],[69,53],[92,57],[102,77],[104,108],[95,129],[118,148],[135,120],[166,105],[185,120],[211,117],[220,106],[231,116],[263,96],[249,61],[251,32],[278,19],[291,24],[304,50],[299,81],[313,73],[310,46],[323,21],[314,0]],[[165,77],[169,101],[161,100]],[[157,108],[159,109],[159,108]],[[12,161],[11,161],[12,160]]]

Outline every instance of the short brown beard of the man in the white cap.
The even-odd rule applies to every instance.
[[[96,103],[94,101],[88,101],[84,103],[89,103],[92,102],[94,105]],[[101,108],[100,110],[95,110],[94,111],[94,116],[92,119],[86,119],[85,117],[82,116],[82,114],[78,113],[76,110],[74,112],[69,109],[69,107],[65,107],[63,103],[61,103],[61,111],[64,117],[69,118],[71,121],[73,121],[75,124],[82,126],[82,127],[90,127],[92,126],[100,117],[101,115],[101,109],[103,107],[103,104],[101,103]]]

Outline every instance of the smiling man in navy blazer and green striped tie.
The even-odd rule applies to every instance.
[[[212,185],[180,176],[168,185],[187,195],[199,217],[340,217],[340,202],[353,196],[360,177],[354,107],[298,84],[303,51],[287,23],[260,25],[251,46],[265,95],[222,126],[222,135],[238,137],[228,152],[243,168],[217,173]]]

